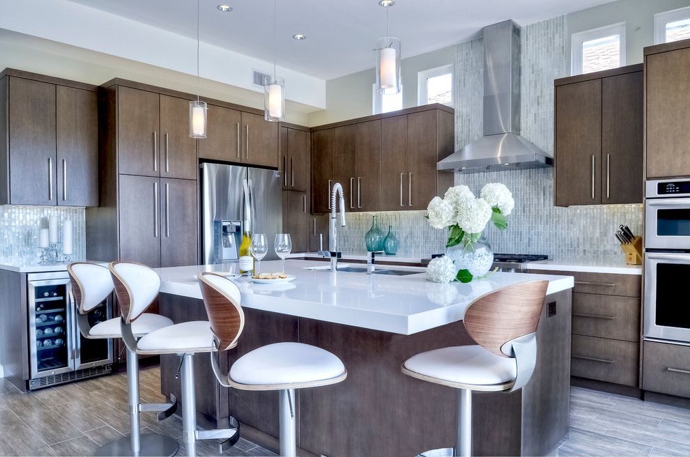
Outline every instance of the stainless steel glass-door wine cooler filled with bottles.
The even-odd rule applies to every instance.
[[[29,318],[29,389],[110,373],[112,339],[91,340],[77,328],[75,302],[67,272],[27,276]],[[111,317],[108,298],[89,313],[89,323]]]

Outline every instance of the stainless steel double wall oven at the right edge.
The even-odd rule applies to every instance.
[[[645,339],[690,344],[690,178],[647,181]]]

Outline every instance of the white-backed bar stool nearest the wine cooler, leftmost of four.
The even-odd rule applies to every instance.
[[[72,294],[77,305],[77,326],[86,339],[122,338],[121,318],[112,318],[91,327],[89,311],[106,300],[113,291],[114,284],[110,271],[104,266],[89,262],[75,262],[67,265],[72,283]],[[172,325],[172,321],[158,314],[144,314],[132,327],[132,333],[139,338],[162,327]],[[127,351],[127,382],[130,405],[129,437],[121,437],[100,447],[96,456],[174,456],[178,449],[177,441],[165,435],[146,433],[141,435],[139,412],[159,412],[158,419],[166,419],[174,414],[177,403],[139,402],[139,359],[132,351]]]

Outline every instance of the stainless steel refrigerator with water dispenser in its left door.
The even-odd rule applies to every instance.
[[[280,172],[224,164],[201,164],[201,261],[233,261],[243,231],[266,233],[264,260],[276,260],[273,240],[282,232]]]

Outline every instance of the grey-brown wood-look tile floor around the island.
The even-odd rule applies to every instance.
[[[142,401],[164,401],[158,369],[141,370]],[[128,432],[123,374],[19,392],[0,380],[0,456],[91,456]],[[177,417],[158,422],[141,415],[144,433],[181,440]],[[217,455],[216,442],[199,442],[200,456]],[[181,443],[180,454],[185,455]],[[381,454],[378,454],[381,455]],[[580,387],[571,389],[570,431],[559,456],[689,456],[690,410]],[[240,438],[224,456],[275,456]]]

